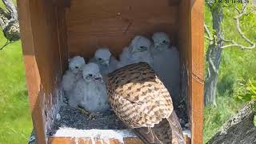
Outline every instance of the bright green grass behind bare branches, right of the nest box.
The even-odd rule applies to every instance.
[[[210,9],[207,6],[205,7],[205,22],[212,31]],[[241,5],[238,5],[238,8],[239,7],[241,8]],[[249,7],[249,10],[250,9],[251,6]],[[248,43],[241,38],[236,30],[233,18],[237,12],[234,10],[234,4],[223,6],[223,14],[222,30],[224,38],[248,46]],[[256,42],[256,14],[248,14],[242,17],[241,29],[246,37]],[[208,43],[205,40],[205,51],[207,50],[207,47]],[[237,99],[234,98],[234,95],[240,88],[238,87],[239,82],[241,82],[239,81],[240,78],[244,80],[244,85],[246,82],[249,82],[249,79],[254,85],[254,80],[256,79],[255,59],[255,49],[240,50],[237,47],[230,47],[222,50],[222,62],[218,71],[217,106],[206,106],[204,109],[204,143],[214,136],[222,124],[243,105],[244,101],[237,101]],[[250,86],[249,83],[248,86]]]

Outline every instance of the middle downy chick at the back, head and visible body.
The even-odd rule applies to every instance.
[[[110,50],[106,47],[96,50],[94,58],[90,59],[90,62],[98,64],[99,69],[104,76],[116,70],[118,64],[118,60],[112,56]]]

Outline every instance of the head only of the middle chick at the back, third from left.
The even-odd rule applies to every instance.
[[[99,64],[102,66],[109,66],[110,65],[110,57],[111,53],[108,48],[100,48],[95,51],[94,58],[98,61]]]

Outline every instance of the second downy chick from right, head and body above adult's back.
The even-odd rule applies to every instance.
[[[147,62],[153,66],[153,58],[150,54],[151,42],[143,36],[136,36],[129,47],[125,47],[120,54],[118,68],[132,63]]]

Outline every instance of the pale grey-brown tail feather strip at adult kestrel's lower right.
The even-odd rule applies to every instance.
[[[179,123],[178,117],[175,111],[170,114],[169,118],[166,118],[170,124],[172,143],[178,142],[178,144],[185,144],[185,140],[182,134],[182,126]]]

